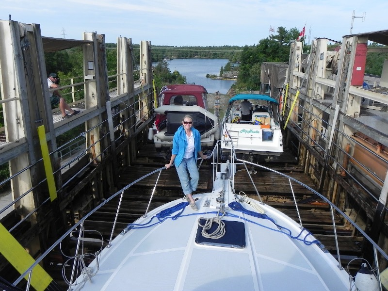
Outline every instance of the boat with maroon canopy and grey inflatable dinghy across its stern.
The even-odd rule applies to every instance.
[[[148,131],[157,151],[168,149],[173,144],[174,133],[186,114],[193,116],[193,126],[201,134],[201,146],[213,147],[220,139],[219,118],[208,110],[207,91],[201,85],[163,86],[155,108],[155,122]],[[176,101],[179,100],[179,103]],[[178,105],[179,104],[179,105]]]

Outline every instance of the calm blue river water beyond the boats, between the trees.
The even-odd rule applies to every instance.
[[[221,66],[225,67],[227,59],[174,59],[167,61],[171,73],[177,70],[181,75],[186,76],[186,81],[195,83],[206,88],[208,93],[219,91],[226,94],[233,80],[211,80],[206,74],[220,74]]]

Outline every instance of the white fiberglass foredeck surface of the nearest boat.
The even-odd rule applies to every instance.
[[[228,215],[222,218],[223,221],[244,224],[245,247],[197,244],[197,221],[200,217],[216,215],[215,199],[223,189],[223,183],[227,207],[234,200],[234,195],[227,193],[230,182],[216,179],[214,192],[194,195],[198,211],[186,206],[176,220],[168,218],[162,223],[130,229],[117,236],[112,246],[102,251],[97,275],[91,278],[91,283],[86,281],[82,290],[349,290],[348,275],[338,268],[338,262],[317,244],[307,245],[279,232],[276,225],[290,229],[293,236],[301,230],[289,217],[266,205],[261,207],[276,225],[269,219],[226,209]],[[145,224],[161,210],[182,202],[187,203],[178,199],[155,209],[136,224]],[[257,212],[246,203],[242,206]],[[158,218],[153,218],[149,225],[157,222]],[[228,231],[233,230],[226,227]],[[299,239],[315,240],[311,235],[306,236],[304,230]],[[94,273],[96,260],[90,267]],[[77,285],[76,290],[82,285]]]

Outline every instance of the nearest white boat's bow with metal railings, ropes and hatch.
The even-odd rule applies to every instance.
[[[218,148],[217,143],[215,150]],[[110,240],[102,252],[85,254],[80,249],[76,259],[70,258],[64,264],[64,274],[75,271],[71,278],[67,277],[72,282],[69,289],[356,291],[354,277],[303,227],[300,218],[297,223],[260,199],[250,199],[243,192],[237,194],[237,162],[245,163],[235,155],[223,163],[213,158],[213,190],[194,195],[198,211],[187,207],[186,199],[177,199],[149,212],[147,209],[145,215]],[[306,187],[285,174],[273,172]],[[122,196],[130,186],[103,204],[120,193]],[[312,192],[346,217],[324,196]],[[119,208],[120,205],[117,214]],[[76,226],[82,226],[87,217]],[[83,231],[77,235],[80,247],[85,236],[87,232]],[[371,243],[381,256],[388,258]],[[359,290],[379,290],[373,273],[360,277],[373,285],[362,289],[361,282],[364,284],[365,280],[358,280]]]

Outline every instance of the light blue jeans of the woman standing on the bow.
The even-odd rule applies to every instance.
[[[197,189],[199,180],[196,160],[194,157],[190,159],[183,158],[182,162],[176,168],[180,184],[182,185],[183,194],[192,194],[192,192]]]

